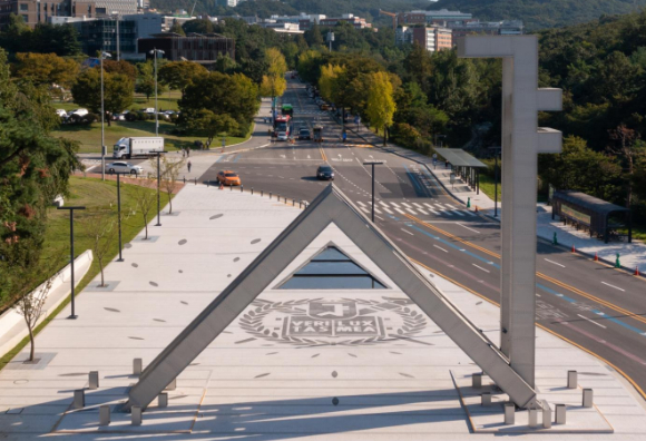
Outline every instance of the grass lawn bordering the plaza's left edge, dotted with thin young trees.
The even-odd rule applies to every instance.
[[[136,200],[134,199],[133,188],[133,185],[121,185],[121,213],[124,214],[130,214],[131,212],[136,210]],[[147,192],[156,193],[154,189],[147,189]],[[75,213],[75,257],[78,257],[81,253],[91,247],[91,242],[89,237],[84,234],[81,227],[84,218],[87,218],[89,213],[99,208],[110,208],[111,203],[114,209],[112,216],[115,222],[117,220],[117,183],[72,176],[70,177],[70,197],[66,199],[66,205],[84,205],[87,207],[85,212],[79,210]],[[167,203],[168,195],[161,193],[161,207],[166,206]],[[151,218],[153,216],[150,215],[149,217]],[[148,220],[150,220],[150,218]],[[130,214],[129,217],[125,218],[121,222],[124,244],[130,242],[137,235],[137,233],[141,231],[143,227],[144,218],[139,213],[136,213],[135,215]],[[57,210],[52,207],[48,213],[43,255],[51,255],[53,252],[60,252],[63,255],[69,255],[69,213],[67,210]],[[106,262],[111,262],[118,253],[118,238],[115,238],[110,246]],[[99,265],[97,259],[95,259],[86,276],[82,278],[82,281],[80,281],[77,287],[77,295],[98,274]],[[69,297],[57,308],[53,314],[51,314],[46,321],[42,322],[42,324],[38,326],[37,332],[40,332],[40,330],[42,330],[45,325],[47,325],[47,323],[49,323],[49,321],[51,321],[68,303]],[[11,361],[11,359],[18,354],[28,343],[29,337],[26,337],[13,350],[4,354],[4,356],[0,359],[0,369],[4,367],[4,365],[9,363],[9,361]]]

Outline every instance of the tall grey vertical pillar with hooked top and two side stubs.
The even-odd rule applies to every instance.
[[[537,155],[561,149],[560,131],[539,128],[538,111],[561,110],[561,90],[538,88],[536,36],[464,37],[458,56],[502,58],[500,349],[534,388]]]

